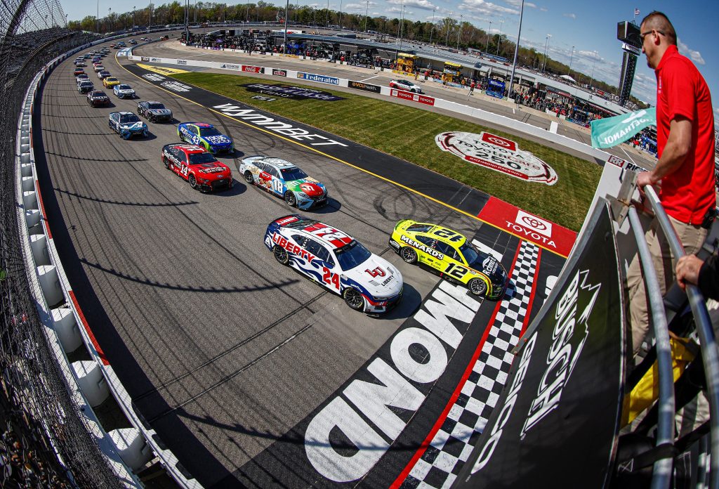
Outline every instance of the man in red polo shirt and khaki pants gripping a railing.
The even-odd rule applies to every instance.
[[[714,116],[707,83],[691,60],[677,51],[677,32],[666,15],[651,12],[641,22],[642,52],[656,73],[656,147],[654,170],[638,175],[639,188],[659,186],[684,251],[699,250],[713,219]],[[676,260],[656,219],[646,241],[654,259],[661,293],[674,281]],[[627,272],[632,347],[636,355],[649,331],[644,278],[638,257]]]

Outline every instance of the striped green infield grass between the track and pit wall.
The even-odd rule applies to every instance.
[[[500,129],[354,93],[322,88],[345,100],[275,99],[262,102],[252,99],[257,93],[248,92],[241,86],[257,83],[257,78],[220,73],[180,73],[173,78],[429,168],[574,231],[582,227],[602,173],[602,168],[595,163]],[[283,82],[273,80],[272,83]],[[530,151],[549,163],[559,180],[553,186],[547,186],[466,163],[440,150],[434,142],[437,134],[447,131],[485,131],[514,140],[521,150]]]

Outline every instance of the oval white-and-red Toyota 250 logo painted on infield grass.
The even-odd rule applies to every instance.
[[[546,185],[554,185],[559,180],[554,168],[531,152],[522,151],[516,142],[489,132],[442,132],[434,140],[443,151],[514,178]]]

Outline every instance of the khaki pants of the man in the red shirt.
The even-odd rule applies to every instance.
[[[684,245],[684,252],[697,252],[704,243],[707,236],[707,230],[701,226],[685,224],[677,221],[669,216],[669,221],[677,232],[679,242]],[[677,260],[669,250],[669,242],[664,237],[664,233],[659,227],[659,221],[656,218],[651,220],[649,229],[644,233],[644,239],[649,244],[649,253],[654,262],[656,270],[656,278],[659,280],[659,288],[661,295],[667,293],[667,289],[674,282],[674,270],[677,266]],[[627,288],[629,299],[629,312],[631,321],[632,350],[636,355],[644,342],[647,332],[649,332],[649,305],[646,300],[646,288],[644,287],[644,276],[641,273],[641,262],[639,255],[635,255],[627,270]]]

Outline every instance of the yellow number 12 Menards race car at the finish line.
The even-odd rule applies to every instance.
[[[467,285],[475,296],[500,299],[509,283],[507,270],[452,229],[405,219],[390,237],[390,247],[408,263],[426,266],[440,277]]]

